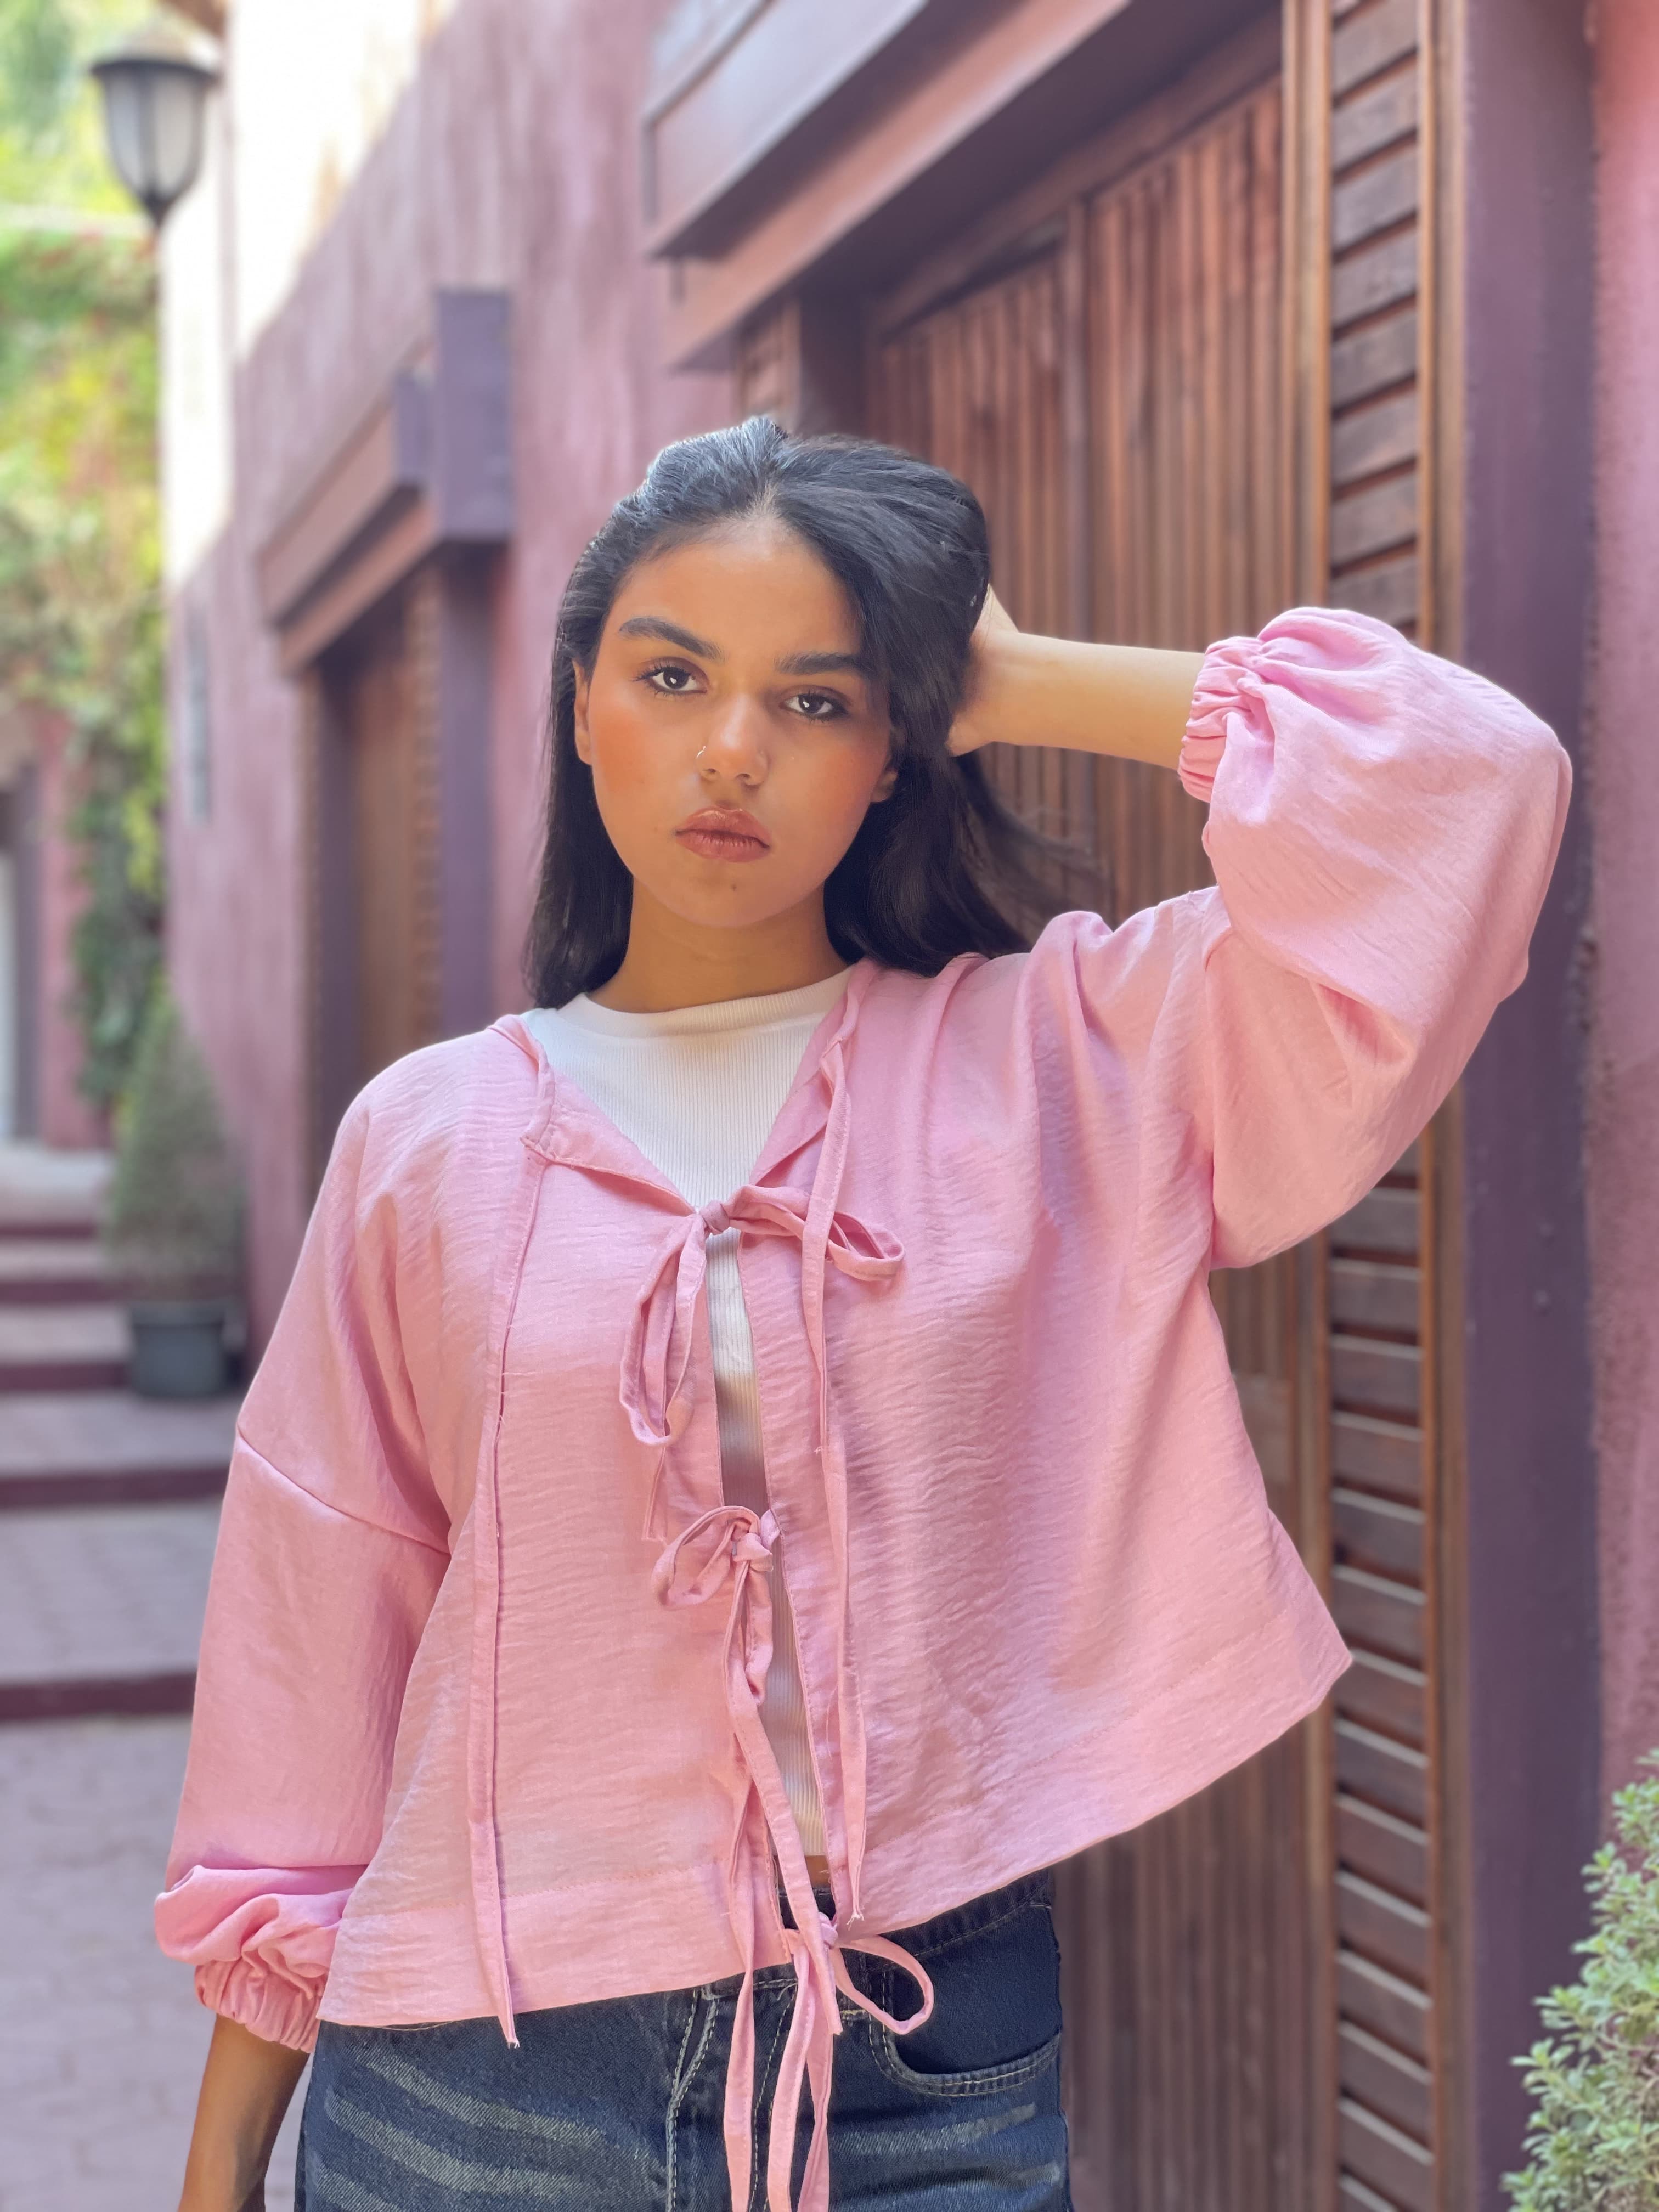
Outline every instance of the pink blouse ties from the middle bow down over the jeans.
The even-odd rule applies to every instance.
[[[748,1783],[732,1827],[732,1849],[726,1869],[726,1905],[743,1960],[743,1982],[732,2017],[732,2053],[726,2066],[726,2168],[732,2205],[750,2201],[754,2163],[754,1951],[761,1913],[776,1916],[770,1891],[770,1854],[776,1851],[783,1891],[794,1927],[783,1940],[794,1964],[794,2011],[783,2044],[779,2084],[772,2097],[768,2130],[765,2203],[768,2212],[792,2212],[790,2163],[801,2112],[801,2084],[812,2084],[812,2146],[801,2181],[799,2212],[830,2212],[830,2079],[834,2037],[841,2033],[841,1991],[896,2035],[918,2028],[933,2011],[933,1984],[920,1960],[885,1936],[843,1936],[834,1920],[818,1911],[812,1893],[801,1832],[790,1812],[772,1743],[761,1723],[765,1672],[772,1663],[772,1546],[779,1524],[772,1513],[750,1506],[712,1506],[661,1551],[650,1586],[664,1606],[701,1606],[730,1584],[732,1601],[726,1617],[723,1672],[726,1708],[732,1719]],[[776,1924],[776,1920],[774,1920]],[[847,1973],[845,1951],[867,1951],[902,1966],[922,1991],[922,2002],[907,2020],[894,2020],[872,1997],[863,1995]]]

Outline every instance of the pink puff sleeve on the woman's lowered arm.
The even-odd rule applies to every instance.
[[[201,2002],[268,2042],[316,2037],[447,1564],[400,1349],[396,1199],[358,1099],[241,1411],[155,1907]]]

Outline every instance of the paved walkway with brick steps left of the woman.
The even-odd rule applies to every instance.
[[[175,2212],[212,2028],[150,1911],[237,1405],[119,1387],[104,1172],[0,1146],[0,2212]]]

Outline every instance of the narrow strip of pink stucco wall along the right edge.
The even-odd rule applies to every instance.
[[[1604,1778],[1659,1747],[1659,9],[1595,0],[1597,619],[1588,1194]]]

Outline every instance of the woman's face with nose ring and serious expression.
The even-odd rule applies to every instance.
[[[894,787],[847,595],[776,522],[626,577],[593,672],[577,670],[575,750],[635,887],[730,929],[816,900]]]

